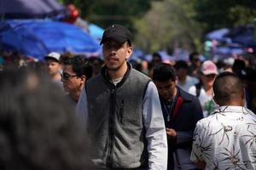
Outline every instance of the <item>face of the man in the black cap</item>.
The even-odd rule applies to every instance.
[[[108,40],[103,43],[102,53],[108,70],[116,71],[126,65],[126,59],[131,56],[132,48],[127,42],[119,44],[113,40]]]

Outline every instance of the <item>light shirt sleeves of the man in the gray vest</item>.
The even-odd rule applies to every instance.
[[[88,103],[85,90],[83,88],[80,95],[76,113],[79,120],[87,124]],[[160,99],[154,82],[148,83],[143,99],[143,122],[146,129],[146,139],[148,140],[148,166],[153,170],[166,170],[167,168],[167,139],[166,127]]]

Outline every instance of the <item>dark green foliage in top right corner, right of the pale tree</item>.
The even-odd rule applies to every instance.
[[[194,8],[195,20],[204,24],[205,31],[245,25],[256,17],[255,0],[194,0]]]

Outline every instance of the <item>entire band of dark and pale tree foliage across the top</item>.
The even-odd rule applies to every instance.
[[[201,49],[203,36],[222,27],[252,23],[255,0],[59,0],[73,3],[84,20],[103,28],[117,23],[131,29],[148,52],[182,47]]]

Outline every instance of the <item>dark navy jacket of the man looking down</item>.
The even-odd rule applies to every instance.
[[[196,169],[194,163],[190,161],[190,154],[196,122],[203,118],[199,100],[177,87],[177,96],[171,111],[166,110],[164,99],[160,98],[160,103],[166,127],[173,128],[177,132],[176,140],[168,139],[168,170],[173,169],[173,156],[176,157],[178,169]],[[170,118],[167,118],[168,115]]]

